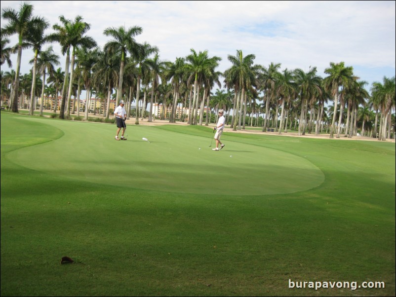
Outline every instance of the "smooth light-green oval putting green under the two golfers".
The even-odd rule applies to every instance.
[[[226,147],[212,151],[211,131],[202,137],[128,126],[128,140],[115,141],[114,124],[24,116],[18,122],[26,131],[40,123],[42,129],[47,127],[50,132],[56,128],[63,133],[53,141],[8,153],[10,160],[59,176],[65,183],[68,179],[86,180],[87,190],[94,190],[88,183],[99,183],[182,193],[266,195],[304,191],[324,181],[323,173],[304,158],[228,141],[227,135],[222,138]],[[180,132],[187,129],[179,128]]]

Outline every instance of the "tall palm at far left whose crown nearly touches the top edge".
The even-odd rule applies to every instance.
[[[11,107],[11,111],[18,112],[19,72],[21,70],[23,42],[31,34],[32,29],[46,27],[48,23],[44,18],[33,16],[33,5],[28,2],[23,2],[19,11],[9,7],[2,9],[1,17],[9,21],[3,28],[4,34],[18,34],[18,58],[16,62],[15,88]]]

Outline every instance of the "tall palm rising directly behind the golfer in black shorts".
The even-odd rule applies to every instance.
[[[117,101],[116,106],[119,104],[119,100],[122,97],[122,80],[124,75],[125,58],[129,52],[132,56],[137,55],[137,50],[141,46],[136,40],[135,36],[142,34],[142,27],[134,26],[125,31],[124,27],[109,27],[103,32],[106,36],[111,36],[114,39],[107,42],[105,50],[111,50],[115,54],[121,55],[121,65],[119,67],[119,83],[117,90]]]

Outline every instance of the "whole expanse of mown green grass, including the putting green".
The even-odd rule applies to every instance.
[[[1,112],[1,296],[395,295],[394,143],[115,131]]]

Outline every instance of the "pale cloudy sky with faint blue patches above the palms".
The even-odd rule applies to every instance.
[[[1,0],[1,9],[19,10],[22,1]],[[281,70],[317,67],[345,62],[354,74],[373,81],[395,76],[396,1],[29,1],[34,14],[45,17],[50,27],[61,24],[59,16],[81,15],[91,24],[87,35],[99,46],[110,40],[108,27],[140,26],[136,37],[159,48],[160,59],[175,61],[190,49],[208,50],[222,58],[219,71],[231,67],[228,55],[241,49],[255,54],[255,64],[280,63]],[[5,22],[1,20],[3,27]],[[52,29],[48,29],[50,33]],[[16,37],[11,37],[15,44]],[[55,51],[65,59],[59,46]],[[45,48],[45,46],[44,46]],[[21,74],[31,68],[33,51],[23,51]],[[16,54],[12,55],[16,65]],[[4,64],[2,71],[8,71]]]

